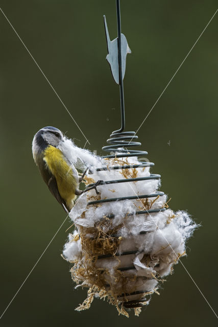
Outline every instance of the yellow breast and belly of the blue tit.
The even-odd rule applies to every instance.
[[[67,207],[71,209],[78,186],[72,168],[64,160],[63,153],[51,145],[45,149],[43,159],[47,168],[56,178],[60,196],[65,200]]]

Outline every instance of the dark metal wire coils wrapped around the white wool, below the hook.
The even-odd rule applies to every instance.
[[[135,135],[135,132],[113,132],[110,135],[110,138],[107,140],[107,143],[110,144],[108,146],[105,146],[102,148],[103,151],[106,152],[112,152],[112,154],[107,156],[102,156],[102,158],[122,158],[122,157],[139,157],[147,155],[147,151],[139,151],[139,150],[129,150],[127,147],[137,147],[141,146],[140,142],[137,142],[138,136]],[[133,141],[134,140],[134,141]],[[110,169],[114,170],[124,170],[124,169],[132,169],[132,168],[144,168],[144,167],[152,167],[154,166],[153,162],[147,162],[147,161],[140,161],[141,164],[137,165],[123,165],[123,166],[111,166],[111,167],[101,167],[97,168],[96,171],[106,171]],[[125,183],[125,182],[137,182],[142,180],[154,180],[154,179],[160,179],[160,175],[158,174],[151,174],[150,176],[145,177],[136,177],[136,178],[125,178],[125,179],[117,179],[117,180],[108,180],[108,181],[102,181],[99,185],[106,185],[106,184],[116,184],[116,183]],[[93,184],[90,184],[88,186],[92,186]],[[143,194],[143,195],[136,195],[136,196],[125,196],[125,197],[115,197],[115,198],[107,198],[102,200],[96,200],[96,201],[90,201],[88,202],[88,205],[93,204],[99,204],[99,203],[106,203],[106,202],[114,202],[114,201],[124,201],[124,200],[134,200],[134,199],[145,199],[145,198],[153,198],[157,196],[163,196],[164,193],[157,191],[153,194]],[[128,213],[127,216],[133,216],[133,215],[149,215],[151,213],[157,213],[165,211],[165,207],[161,207],[158,209],[148,209],[148,210],[140,210],[134,213]],[[108,214],[106,216],[109,219],[113,219],[115,216],[114,214]],[[148,231],[140,231],[141,234],[146,234]],[[113,235],[113,237],[118,237],[118,235]],[[121,253],[116,253],[115,256],[122,256],[122,255],[132,255],[139,253],[138,250],[132,250],[132,251],[125,251]],[[98,256],[98,260],[111,258],[113,257],[113,254],[100,254]],[[130,267],[120,267],[118,270],[120,271],[127,271],[127,270],[135,270],[135,266]],[[106,285],[106,287],[109,287],[109,285]],[[136,291],[130,294],[120,294],[118,295],[118,298],[126,298],[131,297],[132,295],[136,294],[143,294],[146,293],[146,291]],[[139,308],[143,306],[143,302],[146,302],[146,298],[141,298],[138,300],[125,300],[123,301],[123,305],[125,308]]]

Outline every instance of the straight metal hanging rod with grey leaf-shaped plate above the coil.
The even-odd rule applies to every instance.
[[[119,84],[120,92],[120,111],[121,111],[121,127],[120,129],[113,131],[114,133],[121,133],[125,128],[125,104],[124,104],[124,84],[123,79],[126,71],[126,57],[128,53],[131,53],[129,45],[127,43],[126,36],[121,33],[120,22],[120,6],[119,0],[116,0],[116,15],[117,15],[117,38],[110,40],[107,21],[104,15],[105,33],[107,39],[108,55],[106,57],[110,64],[111,73],[114,81]]]

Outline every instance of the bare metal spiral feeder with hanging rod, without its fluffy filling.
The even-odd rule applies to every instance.
[[[124,88],[123,88],[123,79],[125,75],[125,68],[126,68],[126,55],[130,53],[130,49],[126,40],[126,37],[121,33],[121,25],[120,25],[120,7],[119,7],[119,0],[116,0],[116,12],[117,12],[117,31],[118,37],[113,41],[110,41],[107,22],[104,16],[104,24],[105,24],[105,32],[107,38],[107,46],[108,46],[108,55],[107,60],[111,67],[111,72],[113,78],[117,84],[119,84],[120,89],[120,109],[121,109],[121,127],[119,130],[113,131],[110,135],[110,138],[107,140],[107,143],[110,144],[108,146],[104,146],[102,148],[103,151],[112,152],[114,154],[110,154],[107,156],[103,156],[102,158],[122,158],[122,157],[138,157],[147,155],[148,152],[146,151],[139,151],[139,150],[129,150],[127,147],[137,147],[141,146],[141,143],[136,142],[135,140],[138,139],[138,136],[135,135],[134,131],[125,132],[125,106],[124,106]],[[134,141],[133,141],[134,140]],[[144,167],[152,167],[154,166],[153,162],[146,162],[141,161],[141,164],[137,165],[124,165],[124,166],[112,166],[108,167],[109,169],[114,170],[124,170],[124,169],[132,169],[132,168],[144,168]],[[107,167],[97,168],[96,171],[105,171],[108,170]],[[160,175],[158,174],[151,174],[147,177],[139,177],[139,178],[125,178],[125,179],[118,179],[118,180],[108,180],[102,181],[99,185],[105,184],[115,184],[115,183],[125,183],[125,182],[137,182],[142,180],[151,180],[151,179],[160,179]],[[92,186],[93,184],[89,184]],[[143,194],[143,195],[136,195],[136,196],[126,196],[126,197],[115,197],[115,198],[107,198],[102,200],[90,201],[88,205],[105,203],[105,202],[113,202],[113,201],[124,201],[124,200],[134,200],[134,199],[146,199],[146,198],[155,198],[158,196],[163,196],[163,192],[156,192],[154,194]],[[165,207],[160,207],[157,209],[148,209],[148,210],[140,210],[134,213],[129,213],[127,216],[133,215],[144,215],[144,214],[151,214],[165,211]],[[113,214],[108,214],[107,218],[113,219]],[[140,234],[147,233],[147,231],[140,231]],[[112,235],[113,237],[118,237],[117,235]],[[115,256],[122,256],[122,255],[130,255],[137,253],[138,250],[132,251],[125,251],[121,253],[116,253]],[[99,255],[98,260],[110,258],[113,254],[104,254]],[[122,267],[117,268],[120,271],[127,271],[136,269],[135,266],[130,267]],[[109,285],[105,285],[105,287],[110,287]],[[143,294],[145,291],[136,291],[129,294],[120,294],[117,298],[125,298],[125,296],[132,296],[137,294]],[[147,301],[146,298],[136,299],[136,300],[128,300],[123,301],[123,306],[125,308],[139,308],[143,306],[143,302]]]

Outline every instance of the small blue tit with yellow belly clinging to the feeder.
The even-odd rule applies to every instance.
[[[79,177],[77,169],[59,149],[62,142],[64,142],[63,133],[56,127],[46,126],[35,134],[32,152],[44,182],[68,214],[78,195],[91,189],[95,189],[99,194],[96,186],[102,181],[97,181],[85,191],[79,190],[79,183],[83,180],[88,168]]]

